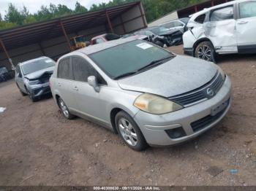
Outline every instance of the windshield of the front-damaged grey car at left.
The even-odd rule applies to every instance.
[[[37,61],[33,61],[31,63],[25,63],[21,66],[23,74],[30,74],[34,71],[39,71],[42,69],[49,68],[51,66],[55,66],[55,62],[50,58],[43,58]]]

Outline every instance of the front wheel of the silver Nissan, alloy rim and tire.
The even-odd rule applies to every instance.
[[[118,112],[115,117],[116,128],[119,136],[128,147],[142,151],[148,147],[143,134],[136,122],[125,112]]]

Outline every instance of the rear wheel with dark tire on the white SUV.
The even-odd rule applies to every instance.
[[[217,53],[214,50],[214,45],[209,41],[200,42],[195,48],[195,57],[216,63]]]

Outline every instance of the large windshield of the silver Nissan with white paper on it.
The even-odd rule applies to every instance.
[[[99,68],[113,79],[123,74],[138,71],[152,61],[170,56],[173,54],[167,50],[141,40],[120,44],[89,55]]]

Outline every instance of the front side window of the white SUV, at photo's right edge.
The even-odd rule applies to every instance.
[[[241,18],[256,17],[256,1],[247,1],[239,4]]]

